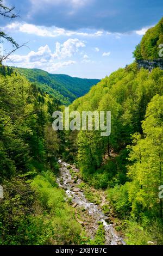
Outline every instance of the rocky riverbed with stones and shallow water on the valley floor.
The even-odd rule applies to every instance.
[[[57,182],[66,191],[67,200],[70,200],[72,206],[76,208],[77,220],[80,212],[82,220],[78,220],[78,222],[83,225],[86,233],[93,239],[98,229],[98,223],[102,222],[105,230],[105,245],[125,245],[122,237],[114,229],[114,224],[108,223],[108,216],[104,215],[100,206],[86,199],[84,191],[80,188],[82,179],[78,178],[79,170],[64,161],[59,160],[59,163],[60,175]],[[70,169],[77,174],[73,178]]]

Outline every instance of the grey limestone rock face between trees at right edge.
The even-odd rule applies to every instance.
[[[163,58],[160,59],[154,59],[154,60],[136,60],[136,63],[138,64],[139,68],[148,69],[149,71],[152,71],[154,68],[160,68],[163,69]]]

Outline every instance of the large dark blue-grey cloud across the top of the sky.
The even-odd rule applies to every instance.
[[[68,31],[92,28],[111,33],[130,33],[155,24],[162,17],[163,6],[161,0],[156,0],[155,4],[153,1],[137,3],[136,0],[8,0],[7,2],[9,5],[15,5],[17,10],[21,10],[21,17],[26,23],[46,27],[56,26]],[[145,9],[148,11],[145,12]]]

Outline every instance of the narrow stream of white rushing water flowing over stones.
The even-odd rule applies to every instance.
[[[60,164],[60,176],[57,178],[59,187],[64,188],[68,198],[71,198],[72,203],[75,206],[84,208],[87,215],[93,217],[91,222],[91,229],[94,231],[94,235],[98,228],[98,222],[102,222],[105,230],[105,245],[125,245],[122,237],[118,235],[117,231],[112,227],[112,224],[106,222],[107,216],[103,214],[103,211],[99,208],[98,205],[90,203],[84,196],[84,193],[78,185],[82,182],[81,179],[77,179],[76,184],[70,174],[70,167],[75,170],[76,173],[79,173],[79,170],[66,162],[59,160]],[[68,168],[67,168],[68,167]],[[91,237],[93,238],[93,236]]]

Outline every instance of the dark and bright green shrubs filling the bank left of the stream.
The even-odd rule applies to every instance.
[[[80,225],[51,171],[31,184],[4,182],[0,204],[0,245],[67,245],[80,242]]]

